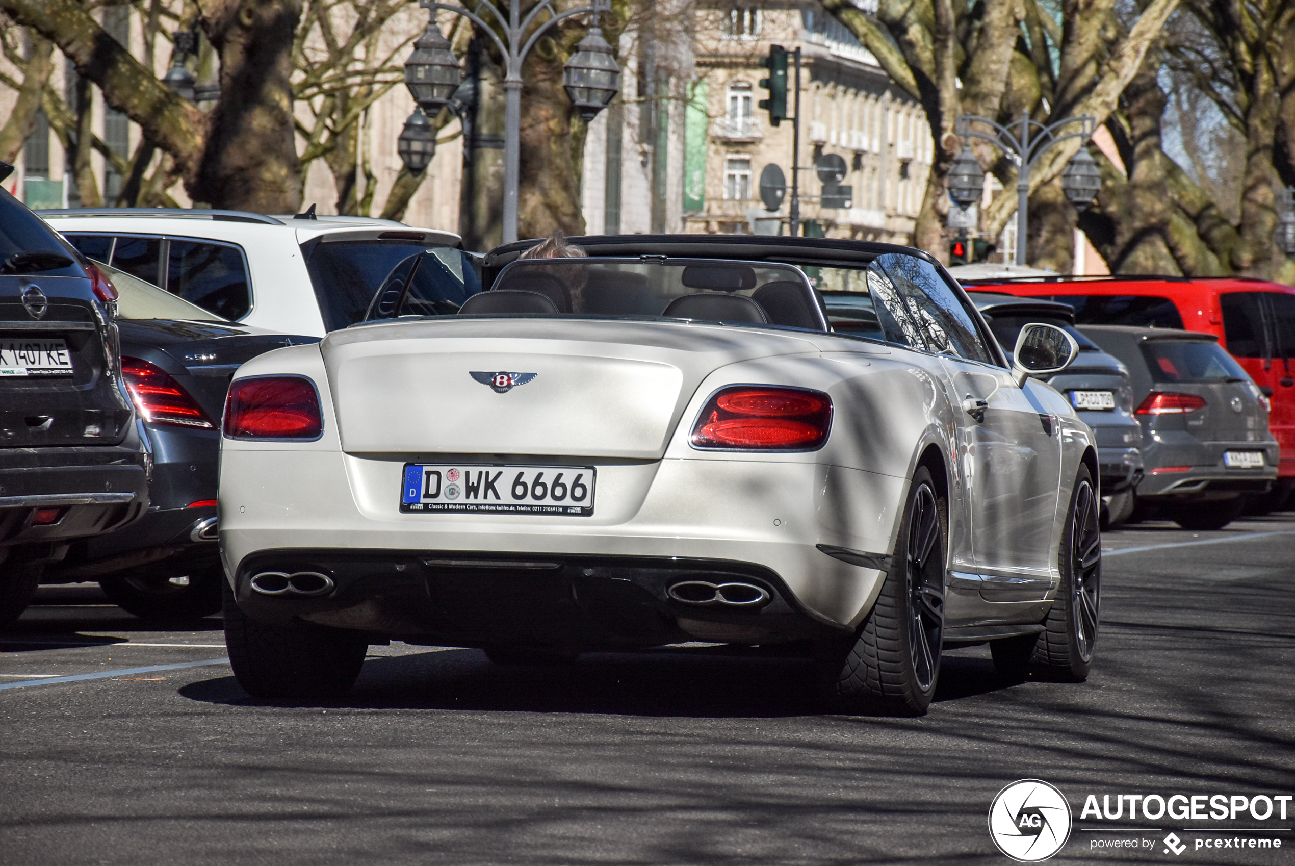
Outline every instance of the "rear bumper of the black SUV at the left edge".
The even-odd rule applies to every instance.
[[[145,454],[130,445],[0,449],[0,548],[111,532],[144,513],[148,492]],[[57,520],[34,526],[38,509],[60,509]]]

